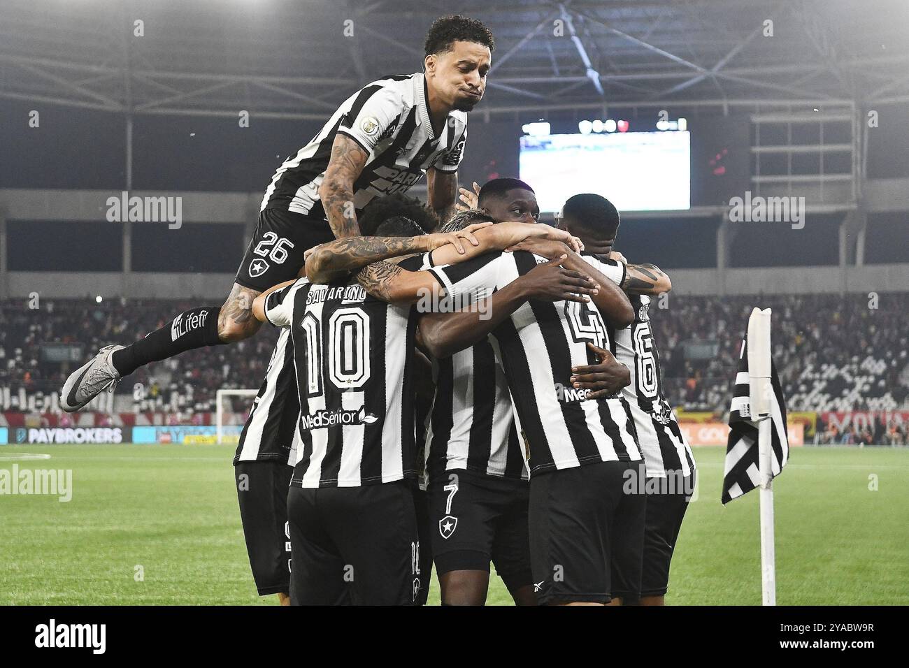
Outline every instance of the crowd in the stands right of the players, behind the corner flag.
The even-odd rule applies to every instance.
[[[671,274],[671,272],[670,272]],[[667,395],[688,411],[722,413],[754,306],[774,311],[774,364],[790,410],[909,407],[909,294],[670,295],[651,309]],[[876,306],[873,308],[872,306]],[[705,359],[691,344],[714,347]]]

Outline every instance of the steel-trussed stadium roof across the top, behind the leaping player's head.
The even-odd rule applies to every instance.
[[[421,69],[428,26],[455,10],[494,31],[493,68],[477,108],[487,115],[909,101],[904,0],[2,0],[2,7],[0,98],[129,114],[245,109],[322,119],[366,82]]]

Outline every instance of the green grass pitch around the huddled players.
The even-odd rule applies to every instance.
[[[233,450],[0,447],[0,468],[73,471],[68,503],[0,495],[0,604],[276,604],[256,595],[249,572]],[[15,461],[23,452],[51,458]],[[667,603],[761,601],[758,494],[720,504],[723,456],[723,448],[695,449],[699,495]],[[906,449],[794,448],[774,483],[777,603],[909,603],[907,478]],[[430,603],[438,603],[435,577]],[[511,603],[496,576],[489,603]]]

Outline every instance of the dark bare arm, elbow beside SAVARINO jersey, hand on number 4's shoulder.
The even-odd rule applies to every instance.
[[[425,313],[420,317],[420,333],[426,349],[436,358],[448,357],[483,341],[528,299],[549,302],[586,302],[597,293],[598,285],[585,274],[563,266],[563,254],[533,269],[487,297],[467,311]]]

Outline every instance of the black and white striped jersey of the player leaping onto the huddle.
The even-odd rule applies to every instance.
[[[359,212],[374,197],[406,192],[429,167],[457,171],[467,138],[467,114],[452,111],[435,136],[422,73],[376,79],[348,97],[309,144],[285,159],[265,190],[263,210],[279,208],[325,218],[318,190],[337,133],[351,137],[369,154],[354,184]]]

